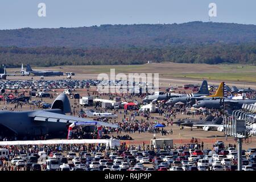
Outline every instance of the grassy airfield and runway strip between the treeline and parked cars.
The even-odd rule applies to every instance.
[[[106,73],[110,77],[110,69],[117,73],[159,73],[160,86],[183,86],[184,84],[201,84],[207,80],[208,84],[219,85],[225,81],[227,85],[238,88],[256,89],[255,65],[209,65],[209,64],[181,64],[181,63],[157,63],[143,65],[79,65],[58,67],[32,67],[32,69],[74,72],[73,79],[97,79],[98,74]],[[8,73],[18,73],[20,68],[8,68]],[[207,76],[210,75],[210,76]],[[8,80],[28,80],[31,76],[9,76]],[[34,79],[40,77],[34,76]],[[44,77],[45,80],[65,79],[66,76]]]

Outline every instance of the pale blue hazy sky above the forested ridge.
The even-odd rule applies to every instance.
[[[0,0],[0,29],[207,22],[212,2],[212,22],[256,24],[255,0]],[[46,17],[38,16],[39,3]]]

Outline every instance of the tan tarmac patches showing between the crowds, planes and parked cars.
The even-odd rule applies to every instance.
[[[64,89],[55,89],[56,92],[55,93],[61,93],[63,92]],[[92,93],[92,91],[95,91],[96,90],[96,87],[95,86],[92,86],[90,89],[89,89],[89,92]],[[76,91],[74,93],[79,93],[80,96],[87,96],[87,89],[76,89]],[[51,92],[50,92],[51,93]],[[26,93],[28,94],[28,93]],[[47,102],[47,103],[52,103],[55,98],[57,96],[54,96],[53,99],[49,99],[49,98],[42,98],[42,101],[43,102]],[[107,96],[101,96],[101,98],[105,98],[105,99],[109,99]],[[141,98],[135,96],[134,99],[138,100],[138,101],[141,101]],[[32,100],[40,100],[40,98],[32,98]],[[81,106],[79,106],[79,103],[78,101],[74,100],[74,99],[71,99],[69,98],[69,101],[71,102],[71,105],[73,107],[75,107],[75,110],[76,111],[80,111],[82,109]],[[129,100],[128,100],[129,101]],[[9,104],[9,105],[3,105],[2,102],[0,102],[0,108],[2,106],[7,106],[7,109],[11,109],[11,108],[14,108],[14,104]],[[93,107],[86,107],[87,109],[93,109]],[[35,107],[35,109],[38,109],[37,107]],[[20,111],[20,110],[30,110],[30,105],[24,105],[22,107],[22,109],[20,109],[20,107],[18,109],[14,109],[16,111]],[[119,109],[120,111],[121,109]],[[108,110],[110,112],[114,112],[114,110]],[[123,110],[122,111],[122,114],[119,114],[119,112],[116,112],[116,114],[118,115],[118,118],[116,120],[112,119],[112,122],[113,121],[122,121],[122,118],[123,118]],[[129,111],[130,113],[130,111]],[[225,135],[223,133],[220,133],[220,132],[217,132],[217,131],[203,131],[203,129],[196,129],[196,128],[193,128],[193,130],[191,131],[191,128],[190,127],[184,127],[183,130],[180,130],[180,127],[179,126],[176,126],[176,125],[169,125],[167,126],[167,122],[166,121],[163,121],[163,117],[160,117],[159,114],[157,113],[152,113],[151,116],[153,117],[157,117],[158,119],[149,119],[150,122],[164,122],[166,123],[166,127],[164,128],[165,130],[167,131],[170,131],[170,129],[172,129],[173,131],[173,134],[167,134],[167,135],[162,135],[162,134],[156,134],[156,138],[171,138],[171,139],[174,139],[174,143],[176,143],[177,145],[179,144],[187,144],[187,143],[191,143],[191,138],[194,137],[194,138],[197,138],[199,142],[204,142],[204,146],[205,148],[212,148],[212,144],[214,144],[214,142],[216,142],[217,140],[222,140],[224,141],[226,144],[228,143],[231,143],[231,144],[234,144],[236,143],[234,141],[233,138],[231,137],[228,137],[228,140],[226,140],[225,138]],[[182,118],[188,118],[188,117],[192,117],[192,115],[183,115],[181,113],[177,114],[176,115],[176,119],[174,119],[174,117],[172,117],[174,119],[174,122],[177,121],[177,119],[182,119]],[[142,117],[136,117],[138,120],[140,120]],[[197,118],[197,117],[194,117],[194,118]],[[144,119],[144,118],[143,118]],[[150,144],[150,140],[154,138],[153,134],[152,133],[141,133],[139,134],[138,132],[136,133],[121,133],[121,134],[117,134],[117,133],[113,133],[113,134],[110,134],[110,136],[117,136],[117,135],[130,135],[130,137],[133,138],[133,140],[123,140],[122,142],[126,142],[127,144],[136,144],[136,145],[141,145],[143,144]],[[243,148],[244,149],[247,149],[247,148],[251,148],[251,147],[255,147],[255,142],[256,142],[256,138],[253,137],[253,138],[250,138],[249,139],[249,142],[244,142],[243,143]]]

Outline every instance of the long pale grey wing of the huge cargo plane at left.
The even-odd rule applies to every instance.
[[[113,125],[111,123],[94,121],[91,119],[73,117],[71,115],[57,114],[49,111],[34,111],[28,115],[36,121],[45,121],[45,122],[63,122],[63,123],[73,123],[73,122],[97,122],[97,126],[106,126],[106,127],[118,127],[118,125]]]

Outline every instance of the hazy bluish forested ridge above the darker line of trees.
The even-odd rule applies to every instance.
[[[256,26],[235,23],[102,25],[1,30],[0,46],[114,48],[256,42]]]

